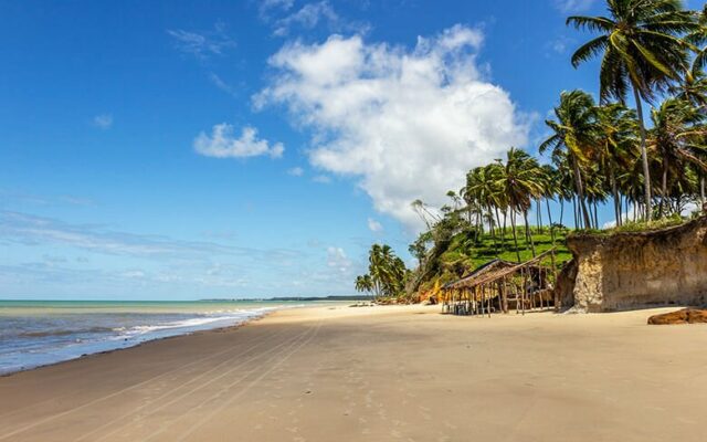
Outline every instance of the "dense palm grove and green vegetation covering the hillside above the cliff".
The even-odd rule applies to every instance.
[[[559,265],[570,257],[563,245],[570,219],[577,231],[609,234],[676,225],[687,208],[705,208],[707,6],[692,11],[679,0],[605,0],[605,7],[602,17],[567,20],[595,34],[571,63],[601,57],[599,103],[583,91],[562,92],[545,122],[549,137],[538,146],[546,157],[510,147],[505,158],[469,170],[465,186],[447,192],[450,204],[414,201],[426,230],[409,249],[419,266],[403,271],[408,294],[496,257],[526,261],[553,244]],[[558,220],[550,201],[560,206]],[[604,203],[614,209],[615,228],[601,231]],[[534,206],[535,227],[528,220]],[[359,286],[367,286],[365,277]]]

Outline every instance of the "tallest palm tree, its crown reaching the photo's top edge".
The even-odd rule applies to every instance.
[[[644,200],[651,220],[651,175],[646,152],[646,131],[642,99],[653,101],[673,81],[679,81],[688,65],[688,50],[698,51],[683,35],[699,30],[692,11],[680,0],[606,0],[609,17],[570,17],[568,24],[601,35],[580,46],[572,65],[603,53],[600,70],[602,102],[615,98],[625,103],[633,90],[641,129]]]

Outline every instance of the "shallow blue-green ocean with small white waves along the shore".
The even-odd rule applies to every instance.
[[[302,302],[1,301],[0,375],[233,326]]]

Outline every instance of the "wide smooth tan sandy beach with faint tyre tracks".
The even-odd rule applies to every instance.
[[[654,313],[284,311],[0,378],[0,442],[705,441],[707,326]]]

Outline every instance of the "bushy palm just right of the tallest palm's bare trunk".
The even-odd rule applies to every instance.
[[[668,173],[683,175],[685,164],[699,167],[703,171],[707,164],[703,160],[703,144],[707,129],[703,125],[705,115],[689,103],[668,98],[661,107],[651,112],[653,128],[650,131],[648,149],[655,151],[661,160],[661,206],[659,217],[664,215],[668,198]],[[700,158],[703,157],[703,158]]]

